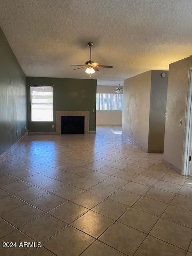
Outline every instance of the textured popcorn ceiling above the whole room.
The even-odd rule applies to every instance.
[[[0,0],[0,26],[27,76],[122,81],[192,54],[192,0]],[[110,84],[110,82],[108,82]]]

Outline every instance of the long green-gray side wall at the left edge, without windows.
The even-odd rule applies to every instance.
[[[0,155],[25,134],[25,126],[26,76],[0,28]]]

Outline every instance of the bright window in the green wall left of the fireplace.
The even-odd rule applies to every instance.
[[[31,86],[31,120],[53,121],[53,88]]]

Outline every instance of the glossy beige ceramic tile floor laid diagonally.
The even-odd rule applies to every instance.
[[[28,136],[0,161],[4,256],[192,256],[192,178],[122,139]]]

